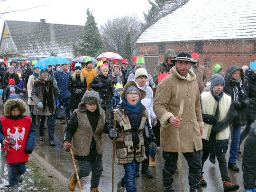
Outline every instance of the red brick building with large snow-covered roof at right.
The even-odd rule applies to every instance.
[[[225,72],[230,65],[249,65],[256,60],[255,10],[255,0],[188,0],[141,34],[139,54],[151,74],[166,49],[199,52],[209,78],[214,63]]]

